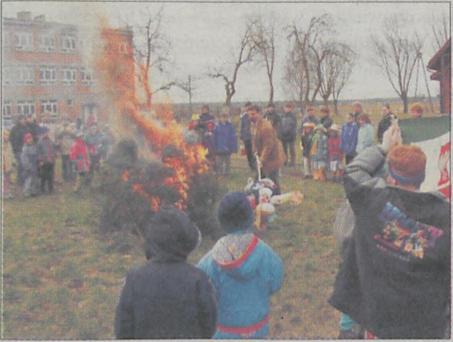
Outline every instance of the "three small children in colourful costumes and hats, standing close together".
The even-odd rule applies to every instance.
[[[334,182],[343,176],[343,151],[340,149],[341,128],[332,124],[326,129],[322,124],[312,122],[302,124],[300,132],[303,147],[303,168],[305,178],[311,177],[313,165],[313,179],[325,181],[326,169],[329,166]]]

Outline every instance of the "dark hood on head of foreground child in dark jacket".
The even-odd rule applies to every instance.
[[[175,206],[162,206],[146,231],[145,255],[154,261],[182,261],[201,241],[198,227]]]

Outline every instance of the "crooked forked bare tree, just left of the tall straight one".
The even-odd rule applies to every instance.
[[[214,68],[213,71],[208,73],[209,77],[220,78],[224,81],[225,94],[227,95],[225,98],[226,106],[230,106],[231,99],[236,93],[236,81],[238,79],[239,69],[244,64],[252,60],[254,52],[255,47],[252,40],[252,34],[250,28],[247,27],[244,35],[242,36],[241,43],[239,44],[239,51],[237,52],[237,55],[235,56],[235,53],[233,52],[235,61],[232,76],[229,76],[223,68]]]

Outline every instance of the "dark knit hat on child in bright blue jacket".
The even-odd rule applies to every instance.
[[[232,192],[223,196],[218,205],[217,218],[220,227],[229,233],[250,228],[253,210],[246,195]]]

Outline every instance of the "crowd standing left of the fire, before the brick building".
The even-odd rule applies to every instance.
[[[99,127],[93,115],[86,122],[69,117],[57,122],[39,122],[34,115],[19,115],[11,131],[3,131],[3,195],[24,197],[54,192],[54,183],[73,184],[78,192],[89,185],[99,163],[114,144],[108,125]],[[55,164],[61,159],[61,177],[55,179]]]

